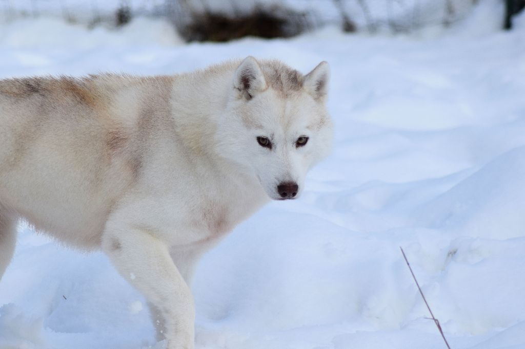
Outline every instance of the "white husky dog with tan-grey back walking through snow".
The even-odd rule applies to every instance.
[[[102,248],[170,349],[194,347],[197,259],[327,156],[329,68],[248,57],[188,74],[0,80],[0,277],[16,222]]]

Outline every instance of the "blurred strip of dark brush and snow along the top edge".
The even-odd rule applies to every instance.
[[[346,32],[409,33],[448,27],[481,0],[0,0],[0,19],[60,16],[90,27],[119,27],[135,16],[162,17],[186,41],[228,41],[245,36],[286,38],[326,25]],[[501,28],[525,0],[505,6]]]

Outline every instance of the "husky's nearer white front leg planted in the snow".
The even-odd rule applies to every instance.
[[[158,310],[166,348],[193,349],[193,297],[167,246],[147,231],[119,228],[104,232],[102,248],[120,274]]]

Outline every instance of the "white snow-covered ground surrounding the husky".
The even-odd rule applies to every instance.
[[[444,348],[400,246],[451,347],[525,348],[524,16],[490,35],[190,45],[145,21],[113,39],[56,25],[0,31],[0,77],[177,73],[249,54],[331,64],[333,156],[300,200],[271,203],[204,257],[198,349]],[[20,225],[0,348],[148,346],[161,347],[145,301],[105,256]]]

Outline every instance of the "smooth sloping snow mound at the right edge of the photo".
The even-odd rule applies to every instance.
[[[500,155],[419,211],[419,223],[462,235],[523,236],[525,147]]]

